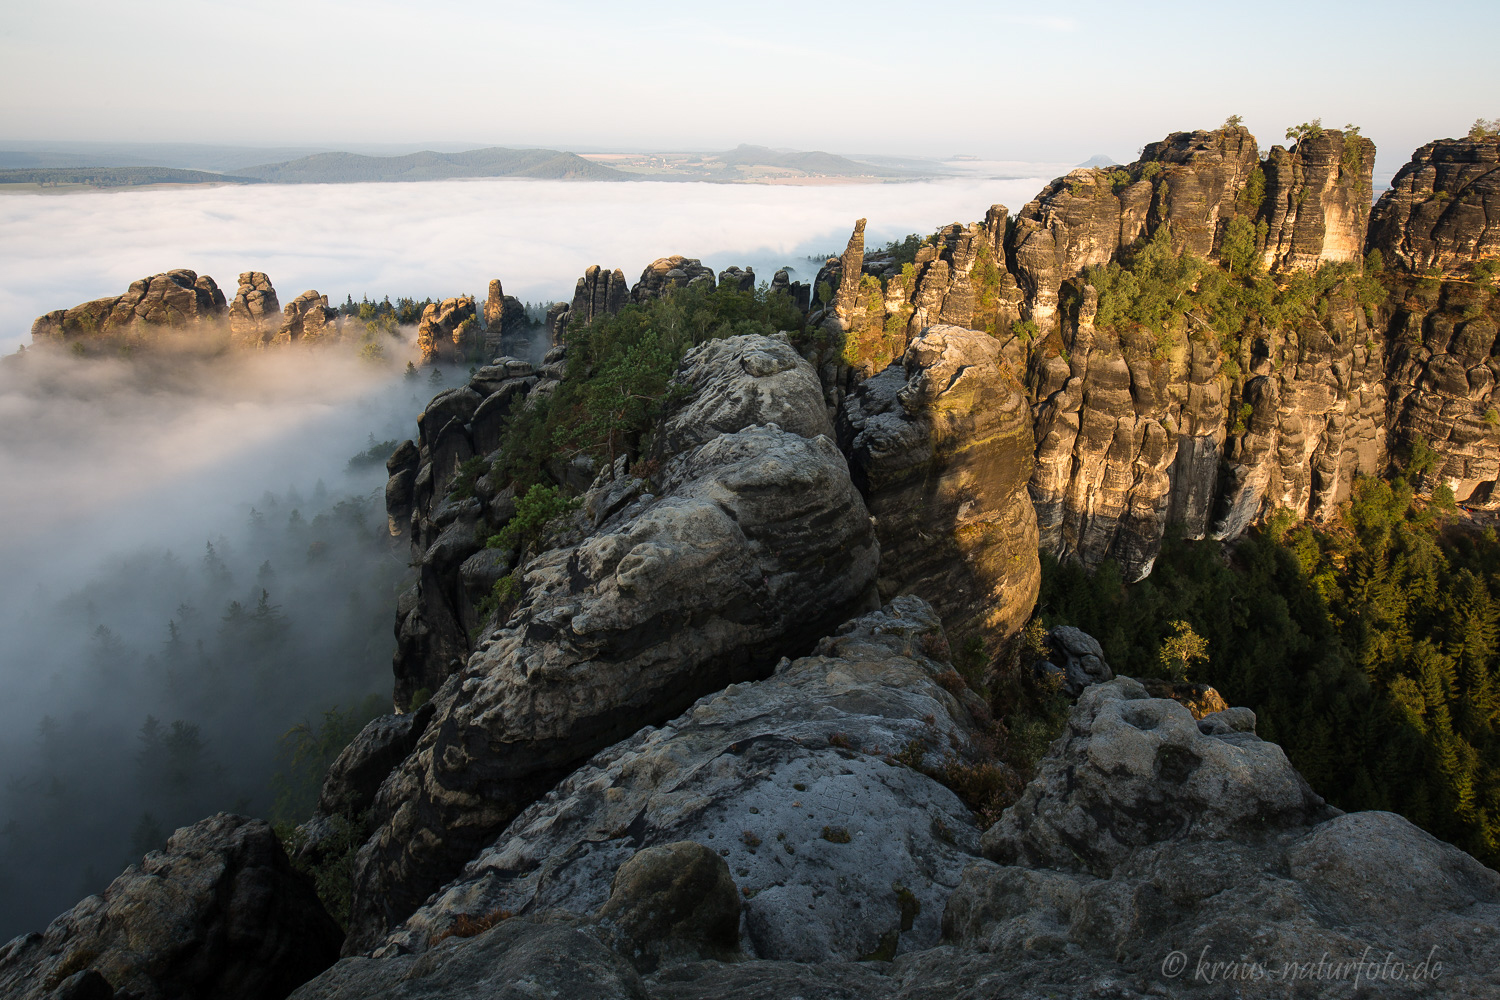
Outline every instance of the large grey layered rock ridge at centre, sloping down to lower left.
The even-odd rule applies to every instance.
[[[518,571],[518,610],[436,693],[381,787],[351,951],[590,754],[764,676],[873,598],[870,516],[807,363],[782,337],[730,337],[688,352],[680,381],[660,471],[600,477],[576,531]]]

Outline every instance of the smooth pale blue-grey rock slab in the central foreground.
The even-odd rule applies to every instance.
[[[940,766],[976,754],[970,709],[942,682],[951,667],[927,654],[942,645],[932,609],[902,597],[771,678],[610,747],[520,813],[388,951],[424,951],[504,910],[608,915],[632,855],[682,840],[729,862],[744,897],[732,940],[747,955],[836,961],[936,945],[978,829],[916,760],[891,756],[916,747]]]

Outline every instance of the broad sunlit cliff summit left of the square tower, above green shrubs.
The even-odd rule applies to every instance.
[[[1226,126],[1173,132],[1130,166],[1078,168],[1052,181],[1017,213],[1006,241],[1028,318],[1054,328],[1065,280],[1162,225],[1174,249],[1214,256],[1228,220],[1258,208],[1242,198],[1257,165],[1250,130]]]

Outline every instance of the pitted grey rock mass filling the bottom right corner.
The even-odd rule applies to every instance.
[[[972,957],[920,957],[908,978],[1113,973],[1164,996],[1238,996],[1246,978],[1290,997],[1500,985],[1500,876],[1390,813],[1326,807],[1254,726],[1248,709],[1194,720],[1130,678],[1090,687],[984,835],[1000,864],[970,867],[948,901],[945,940]]]

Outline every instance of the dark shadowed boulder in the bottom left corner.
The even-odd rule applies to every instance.
[[[280,1000],[344,934],[272,828],[219,813],[130,865],[42,934],[0,948],[0,996]]]

